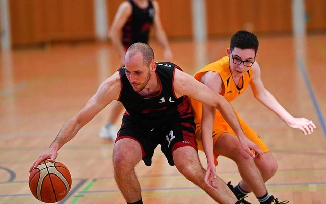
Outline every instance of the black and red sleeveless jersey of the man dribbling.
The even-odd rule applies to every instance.
[[[165,122],[192,117],[191,107],[186,96],[176,98],[173,90],[175,69],[180,69],[170,62],[157,63],[156,75],[161,84],[160,92],[155,96],[144,96],[135,92],[125,74],[124,67],[119,69],[122,89],[119,101],[126,108],[126,113],[135,122],[145,127],[156,127]]]

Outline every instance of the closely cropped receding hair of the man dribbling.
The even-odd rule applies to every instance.
[[[143,63],[147,66],[154,60],[154,51],[146,43],[134,43],[128,49],[127,53],[129,56],[133,56],[136,53],[142,53]]]

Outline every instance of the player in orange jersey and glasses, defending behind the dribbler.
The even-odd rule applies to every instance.
[[[260,67],[256,61],[257,50],[257,37],[247,31],[238,31],[231,38],[230,48],[227,49],[228,55],[205,66],[194,77],[229,102],[241,95],[250,85],[254,97],[280,116],[286,124],[300,129],[305,135],[311,134],[316,128],[312,121],[294,118],[264,88],[260,78]],[[238,166],[242,180],[234,188],[230,182],[228,186],[243,203],[249,203],[244,200],[244,197],[251,191],[260,203],[287,203],[287,201],[278,202],[277,198],[268,194],[264,182],[274,175],[277,163],[267,145],[239,115],[237,116],[246,136],[264,152],[262,161],[250,158],[243,151],[241,141],[234,136],[234,132],[219,111],[193,99],[191,106],[195,116],[198,149],[205,152],[208,162],[206,184],[213,188],[210,178],[216,176],[217,156],[223,155],[234,160]]]

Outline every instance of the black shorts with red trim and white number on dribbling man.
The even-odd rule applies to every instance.
[[[146,166],[152,164],[154,150],[158,144],[169,164],[174,166],[172,153],[179,147],[191,146],[197,150],[194,117],[176,118],[156,127],[145,127],[124,115],[116,142],[123,138],[131,138],[140,143],[143,161]]]

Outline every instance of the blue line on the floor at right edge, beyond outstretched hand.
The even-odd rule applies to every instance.
[[[320,124],[321,124],[321,127],[322,127],[322,131],[324,133],[324,137],[326,139],[326,125],[325,125],[325,120],[324,120],[324,118],[322,116],[322,113],[320,111],[320,108],[319,108],[319,105],[318,105],[318,102],[317,102],[315,93],[314,93],[314,91],[312,89],[311,82],[310,82],[309,77],[308,77],[307,69],[306,69],[306,67],[304,65],[304,62],[301,59],[297,59],[297,63],[299,65],[299,69],[301,71],[301,74],[304,77],[304,80],[305,80],[306,86],[308,88],[308,91],[309,91],[309,94],[310,94],[312,103],[314,104],[315,111],[317,112],[318,119],[320,121]]]

